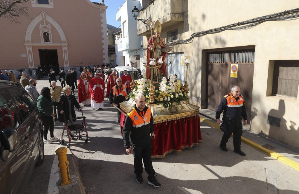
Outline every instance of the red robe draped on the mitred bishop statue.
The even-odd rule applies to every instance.
[[[163,41],[163,38],[160,37],[160,43],[157,43],[157,38],[155,36],[150,37],[149,38],[149,41],[147,43],[147,65],[149,66],[149,62],[150,62],[150,58],[151,58],[151,55],[150,55],[150,49],[152,48],[152,46],[157,46],[157,44],[160,44],[162,49],[165,48],[165,44],[164,44],[164,41]],[[166,55],[167,53],[165,52],[162,52],[162,54],[160,56],[163,56],[162,60],[163,60],[163,63],[162,63],[162,66],[160,68],[158,68],[158,71],[161,72],[164,77],[167,77],[167,74],[166,74],[166,64],[165,64],[165,58],[166,58]],[[158,62],[159,58],[156,59],[156,62]],[[158,63],[157,63],[158,64]],[[159,64],[160,65],[160,64]],[[147,69],[147,78],[150,79],[150,69]]]

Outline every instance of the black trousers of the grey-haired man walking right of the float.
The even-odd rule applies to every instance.
[[[239,151],[241,149],[241,136],[242,136],[242,119],[229,120],[227,117],[224,120],[226,124],[227,133],[224,133],[220,142],[221,146],[225,146],[231,134],[234,134],[234,149]]]

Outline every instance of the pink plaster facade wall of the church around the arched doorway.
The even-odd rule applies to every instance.
[[[32,18],[44,11],[60,25],[68,43],[69,66],[102,64],[104,52],[108,52],[108,48],[104,48],[104,38],[102,37],[103,25],[106,27],[106,18],[101,17],[101,12],[106,17],[105,8],[94,7],[86,0],[53,0],[53,4],[54,8],[32,7],[31,1],[24,5],[30,7],[30,12],[34,13],[31,15]],[[25,33],[32,19],[21,16],[18,21],[19,23],[10,23],[7,18],[0,18],[1,69],[27,69],[29,67],[28,58],[20,57],[20,55],[27,54],[24,45]],[[103,21],[105,21],[105,24],[103,24]],[[43,24],[43,20],[36,24],[33,29],[32,43],[41,42],[39,24]],[[57,29],[47,20],[46,24],[51,25],[52,42],[61,43]],[[40,64],[38,49],[57,49],[59,67],[64,66],[62,46],[42,45],[32,46],[35,67]],[[103,51],[103,49],[106,50]],[[105,60],[108,61],[108,58]]]

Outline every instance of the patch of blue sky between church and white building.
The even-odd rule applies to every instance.
[[[91,1],[102,3],[102,0]],[[108,6],[108,8],[106,9],[107,24],[115,27],[120,27],[120,21],[115,21],[115,14],[118,11],[118,8],[121,7],[124,2],[125,0],[105,0],[105,5]]]

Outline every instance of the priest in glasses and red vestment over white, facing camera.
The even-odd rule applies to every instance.
[[[99,77],[99,73],[95,72],[94,77],[90,80],[89,90],[90,90],[90,104],[92,109],[104,110],[104,80]]]

